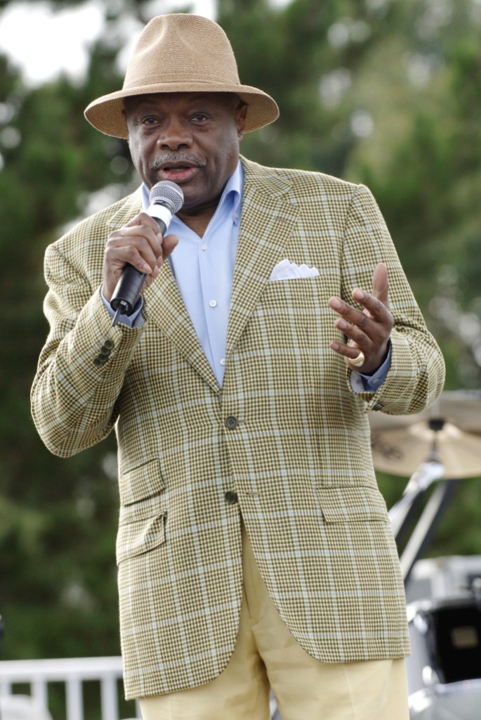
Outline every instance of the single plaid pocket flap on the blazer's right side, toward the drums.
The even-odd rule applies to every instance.
[[[318,487],[326,523],[387,523],[388,510],[379,490],[373,487]]]

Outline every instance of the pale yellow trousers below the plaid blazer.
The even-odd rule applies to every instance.
[[[408,720],[404,660],[315,660],[267,593],[243,528],[239,635],[226,670],[197,688],[140,699],[144,720],[269,720],[272,688],[283,720]]]

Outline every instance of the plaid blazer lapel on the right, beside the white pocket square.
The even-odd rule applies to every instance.
[[[235,346],[272,268],[285,257],[296,228],[298,210],[288,196],[289,186],[255,163],[242,158],[245,171],[239,232],[227,329],[226,356]]]

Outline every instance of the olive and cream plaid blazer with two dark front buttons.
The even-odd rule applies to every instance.
[[[145,324],[111,327],[101,300],[107,235],[139,191],[47,248],[50,334],[32,387],[47,447],[70,456],[115,426],[119,604],[127,698],[213,680],[236,642],[241,514],[272,600],[325,662],[408,652],[398,555],[370,452],[369,410],[417,413],[444,363],[370,192],[242,159],[244,199],[224,387],[169,263],[145,292]],[[269,282],[283,258],[319,276]],[[356,394],[331,295],[350,300],[388,265],[390,371]]]

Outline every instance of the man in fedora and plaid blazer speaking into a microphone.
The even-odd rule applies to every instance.
[[[284,720],[408,717],[367,412],[426,408],[444,364],[370,192],[239,158],[277,116],[217,24],[153,19],[86,109],[142,187],[47,248],[32,412],[61,456],[115,426],[124,685],[146,720],[266,720],[270,687]],[[165,180],[184,202],[162,238],[142,209]],[[112,324],[126,264],[145,284]]]

